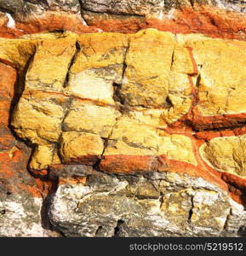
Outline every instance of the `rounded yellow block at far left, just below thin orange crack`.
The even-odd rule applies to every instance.
[[[14,111],[12,125],[17,134],[32,143],[47,144],[56,142],[60,137],[60,124],[63,118],[63,108],[51,99],[57,96],[43,96],[30,99],[20,99]],[[47,142],[48,141],[48,142]]]

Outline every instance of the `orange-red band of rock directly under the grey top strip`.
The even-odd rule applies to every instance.
[[[88,16],[88,18],[87,18]],[[134,33],[145,28],[157,28],[163,32],[203,33],[213,38],[231,38],[246,40],[245,16],[243,14],[195,4],[195,8],[176,9],[171,18],[164,15],[163,20],[150,17],[130,16],[123,19],[119,15],[108,15],[105,19],[97,15],[85,15],[87,25],[79,15],[48,11],[43,15],[16,20],[14,28],[7,26],[6,18],[2,19],[0,37],[17,38],[24,34],[37,32],[68,30],[77,33],[87,32],[123,32]]]

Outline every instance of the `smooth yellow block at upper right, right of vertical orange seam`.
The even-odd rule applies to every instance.
[[[192,47],[199,79],[197,105],[202,115],[244,113],[246,55],[240,42],[197,40]],[[233,55],[233,58],[232,58]],[[237,59],[237,65],[235,59]]]

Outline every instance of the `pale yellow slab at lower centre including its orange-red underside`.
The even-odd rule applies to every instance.
[[[117,120],[103,155],[100,168],[105,172],[158,170],[159,166],[164,164],[157,156],[162,155],[166,155],[170,160],[197,165],[189,137],[167,134],[161,136],[157,134],[154,127],[148,127],[125,117]],[[141,158],[138,160],[139,156]],[[150,166],[147,164],[149,160]],[[140,164],[145,161],[146,166]],[[112,166],[115,167],[112,168]]]

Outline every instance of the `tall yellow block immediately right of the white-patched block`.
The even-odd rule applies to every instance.
[[[148,44],[152,47],[146,47]],[[180,76],[176,80],[170,79],[176,73],[179,76],[179,71],[183,72],[181,66],[184,62],[179,61],[176,64],[178,60],[172,59],[174,46],[174,35],[155,30],[139,32],[131,38],[126,55],[123,85],[120,90],[125,103],[130,106],[169,108],[166,101],[169,94],[172,95],[172,91],[179,90],[180,97],[189,94],[189,81],[184,81],[187,79],[186,76]],[[187,57],[189,58],[188,55]],[[186,61],[186,57],[182,61]],[[186,66],[189,66],[189,62]],[[189,67],[186,68],[189,70]],[[182,79],[182,84],[177,83],[179,79]],[[171,99],[170,101],[172,102]]]

